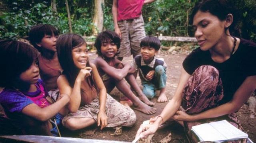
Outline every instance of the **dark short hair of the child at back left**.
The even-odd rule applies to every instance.
[[[53,35],[53,34],[55,36],[59,35],[58,30],[54,26],[48,25],[48,24],[41,24],[41,25],[33,26],[30,29],[30,31],[28,33],[28,39],[29,39],[30,43],[36,49],[38,49],[39,52],[42,52],[42,47],[39,47],[36,44],[41,42],[44,35]]]

